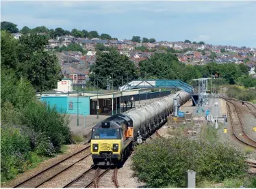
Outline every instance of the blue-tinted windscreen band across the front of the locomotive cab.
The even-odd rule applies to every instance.
[[[119,128],[93,128],[92,139],[120,139]]]

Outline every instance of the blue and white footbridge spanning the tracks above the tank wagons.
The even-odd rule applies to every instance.
[[[122,87],[119,87],[119,91],[126,91],[136,88],[178,88],[190,94],[194,93],[193,87],[187,83],[184,83],[183,81],[165,79],[133,80]]]

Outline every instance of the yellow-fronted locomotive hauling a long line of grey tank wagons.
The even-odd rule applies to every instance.
[[[179,98],[180,104],[184,104],[190,99],[190,94],[179,91],[97,123],[92,128],[90,142],[94,164],[122,165],[134,145],[142,143],[166,123],[173,110],[174,98]]]

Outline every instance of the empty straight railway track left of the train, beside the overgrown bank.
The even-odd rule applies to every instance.
[[[49,166],[47,169],[40,171],[36,175],[29,177],[25,181],[16,184],[16,186],[13,186],[12,188],[38,188],[39,186],[42,186],[42,184],[50,181],[57,175],[60,175],[60,173],[63,173],[64,171],[70,169],[73,165],[88,158],[88,156],[90,155],[90,145],[88,145],[83,149],[77,151],[75,154],[64,158],[64,160],[61,160],[60,162]]]

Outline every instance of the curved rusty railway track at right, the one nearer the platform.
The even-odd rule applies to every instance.
[[[231,100],[227,100],[227,98],[225,100],[227,102],[227,111],[229,113],[231,128],[235,138],[246,145],[250,145],[251,147],[256,148],[256,142],[253,141],[253,139],[247,136],[247,134],[244,132],[244,124],[242,122],[238,108],[233,102],[231,102]]]

